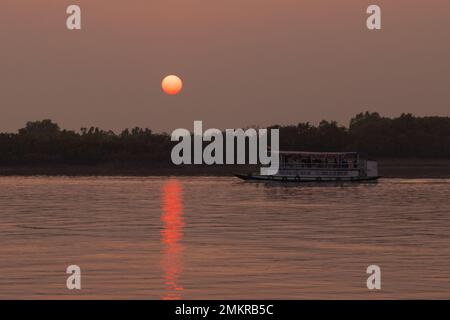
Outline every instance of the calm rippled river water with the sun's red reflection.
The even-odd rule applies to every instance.
[[[2,177],[0,191],[0,298],[450,298],[450,180]]]

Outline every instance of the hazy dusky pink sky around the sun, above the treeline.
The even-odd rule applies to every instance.
[[[66,29],[70,4],[81,31]],[[450,115],[448,0],[2,0],[0,43],[2,132]],[[180,95],[162,93],[167,74]]]

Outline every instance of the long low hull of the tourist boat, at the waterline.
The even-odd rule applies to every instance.
[[[376,181],[380,177],[294,177],[294,176],[263,176],[252,174],[234,174],[235,177],[244,181],[274,181],[287,183],[302,183],[302,182],[361,182],[361,181]]]

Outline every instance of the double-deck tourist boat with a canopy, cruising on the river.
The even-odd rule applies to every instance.
[[[275,175],[235,174],[242,180],[280,182],[373,181],[379,178],[376,161],[357,152],[279,152]]]

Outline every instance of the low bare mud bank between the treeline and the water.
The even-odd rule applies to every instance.
[[[378,163],[386,178],[450,178],[450,159],[378,159]],[[252,165],[9,165],[0,166],[0,176],[231,176],[258,170]]]

